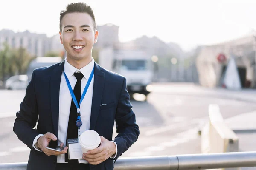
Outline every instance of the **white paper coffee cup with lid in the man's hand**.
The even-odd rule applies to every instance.
[[[87,153],[89,150],[96,149],[100,144],[100,136],[94,130],[86,130],[79,137],[79,144],[82,153]]]

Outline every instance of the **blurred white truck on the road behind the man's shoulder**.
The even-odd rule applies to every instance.
[[[134,93],[147,96],[152,90],[151,57],[143,50],[103,48],[99,51],[99,65],[124,76],[131,97]]]

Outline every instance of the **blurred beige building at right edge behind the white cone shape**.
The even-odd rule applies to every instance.
[[[233,57],[242,87],[256,87],[255,51],[256,38],[253,34],[201,48],[196,62],[200,84],[212,88],[224,86],[227,63]]]

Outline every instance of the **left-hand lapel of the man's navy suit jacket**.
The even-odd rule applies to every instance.
[[[51,94],[51,110],[52,110],[52,123],[54,134],[58,138],[58,119],[59,119],[59,97],[60,97],[60,84],[61,74],[64,68],[64,61],[55,67],[52,71],[50,80],[50,94]]]

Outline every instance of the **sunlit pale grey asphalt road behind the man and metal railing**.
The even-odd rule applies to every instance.
[[[12,131],[24,95],[23,90],[0,90],[0,163],[28,160],[29,148]],[[254,102],[209,95],[192,84],[158,84],[147,102],[131,104],[140,136],[122,157],[200,153],[198,129],[208,121],[209,104],[218,104],[224,118],[256,110]]]

